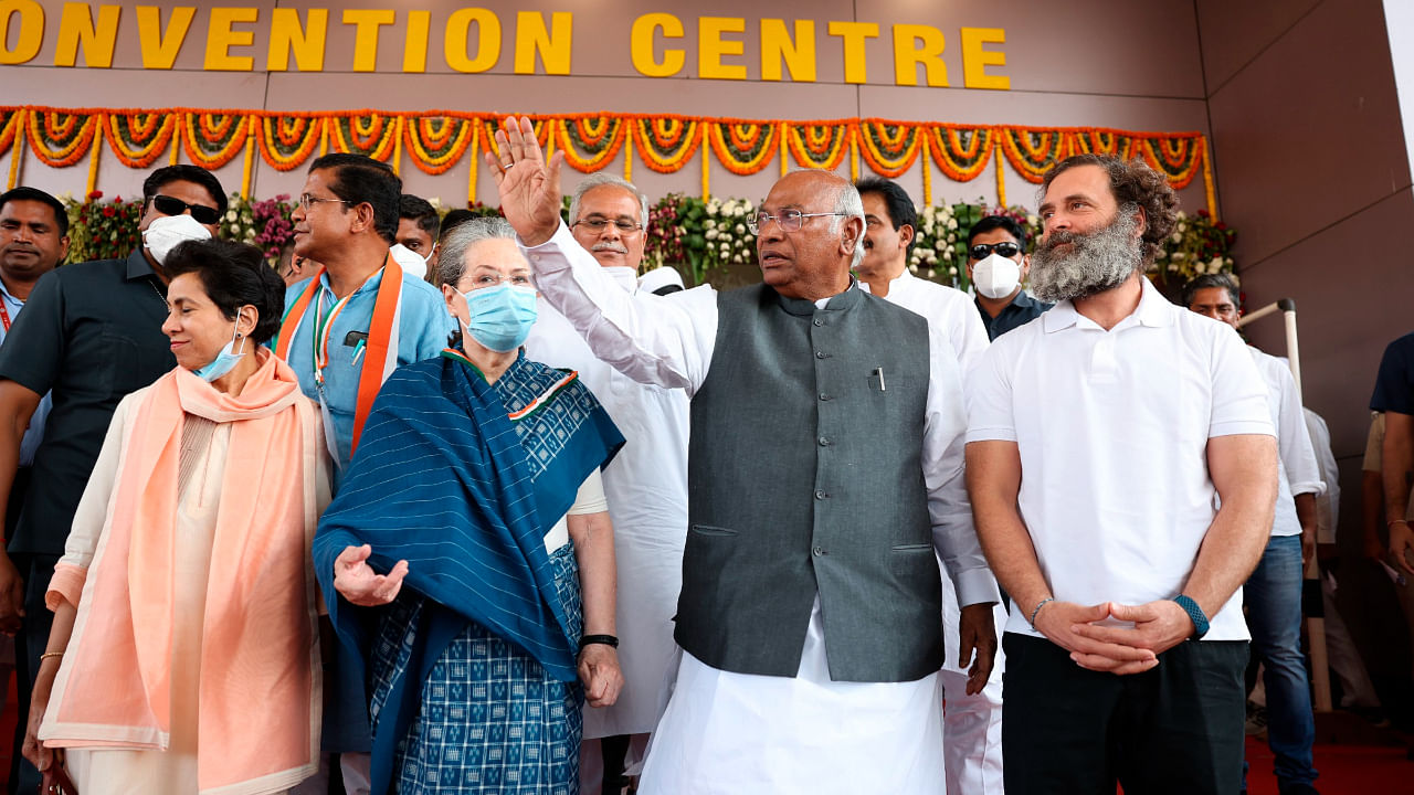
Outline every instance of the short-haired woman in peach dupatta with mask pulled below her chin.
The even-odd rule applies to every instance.
[[[320,748],[318,412],[260,347],[284,284],[259,250],[182,243],[164,270],[178,366],[113,416],[49,586],[25,757],[83,795],[283,792]]]

